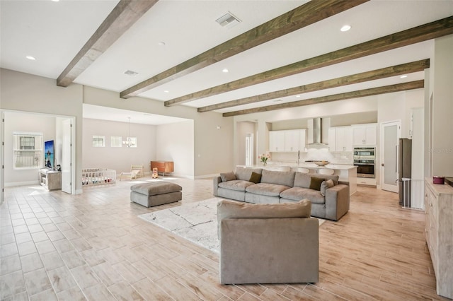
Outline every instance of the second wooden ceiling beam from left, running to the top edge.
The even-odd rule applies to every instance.
[[[173,66],[156,76],[148,78],[137,85],[127,88],[120,93],[121,98],[131,98],[151,88],[155,88],[176,78],[195,72],[206,66],[233,57],[236,54],[261,45],[294,30],[304,28],[348,10],[354,6],[363,4],[369,0],[311,0],[306,4],[294,8],[292,11],[282,14],[277,18],[263,23],[246,33],[238,35],[202,54],[188,59],[177,66]]]

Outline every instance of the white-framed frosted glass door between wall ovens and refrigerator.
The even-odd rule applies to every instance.
[[[398,139],[401,122],[381,124],[381,188],[398,192]]]

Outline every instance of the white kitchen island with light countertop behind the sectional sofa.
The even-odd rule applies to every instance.
[[[314,163],[269,163],[267,165],[237,165],[236,167],[252,167],[262,168],[263,170],[281,170],[294,172],[300,171],[301,168],[306,168],[310,173],[317,174],[319,170],[333,170],[333,175],[338,175],[338,180],[349,182],[349,192],[354,194],[357,191],[357,166],[344,164],[328,164],[326,166],[318,166]]]

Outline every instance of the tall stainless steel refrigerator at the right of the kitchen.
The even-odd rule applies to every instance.
[[[399,204],[411,207],[412,140],[400,138],[398,143]]]

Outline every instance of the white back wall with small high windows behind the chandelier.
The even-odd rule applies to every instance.
[[[156,157],[156,126],[130,124],[130,136],[137,137],[137,147],[115,148],[110,146],[111,136],[122,136],[124,141],[129,134],[127,122],[111,122],[84,118],[83,168],[108,168],[120,172],[130,171],[131,165],[143,165],[149,172],[149,162]],[[93,147],[93,135],[105,136],[105,148]]]

